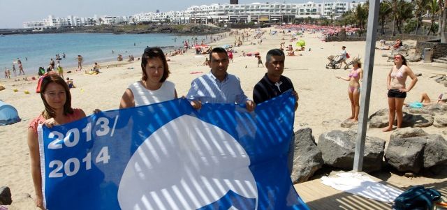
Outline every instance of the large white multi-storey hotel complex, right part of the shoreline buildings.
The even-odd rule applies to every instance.
[[[331,16],[341,17],[344,13],[364,2],[330,1],[323,3],[247,3],[247,4],[211,4],[210,6],[191,6],[182,12],[169,12],[163,17],[176,24],[190,22],[219,23],[219,22],[293,22],[299,18],[321,18]],[[175,13],[175,14],[174,14]],[[146,14],[146,20],[152,15]],[[140,14],[142,15],[142,14]],[[134,15],[135,22],[140,22],[140,16]],[[161,21],[160,19],[154,19]],[[155,21],[156,22],[156,21]]]

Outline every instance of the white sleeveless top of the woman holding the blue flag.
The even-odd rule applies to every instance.
[[[160,103],[166,100],[173,100],[175,98],[175,85],[173,82],[169,81],[163,82],[160,89],[155,91],[146,89],[141,84],[141,81],[129,85],[127,89],[130,89],[133,93],[135,107],[149,105],[152,103]]]

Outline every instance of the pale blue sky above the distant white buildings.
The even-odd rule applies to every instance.
[[[304,3],[309,0],[286,0],[286,3]],[[323,1],[323,0],[321,0]],[[321,2],[316,1],[316,2]],[[43,20],[48,15],[66,17],[93,17],[93,15],[134,15],[159,9],[161,12],[184,10],[193,5],[229,3],[230,0],[0,0],[0,29],[22,28],[22,23]],[[239,0],[239,3],[284,2]]]

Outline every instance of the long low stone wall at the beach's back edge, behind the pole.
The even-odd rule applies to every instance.
[[[411,40],[434,40],[439,39],[437,36],[423,36],[414,34],[397,34],[396,36],[377,36],[376,40],[396,40],[400,38],[401,40],[411,39]],[[355,42],[355,41],[365,41],[366,36],[328,36],[326,42]]]

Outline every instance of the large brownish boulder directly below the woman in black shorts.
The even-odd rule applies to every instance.
[[[425,137],[390,139],[385,160],[400,172],[419,172],[423,167]]]

